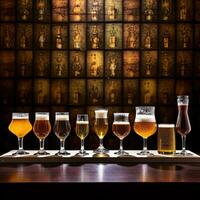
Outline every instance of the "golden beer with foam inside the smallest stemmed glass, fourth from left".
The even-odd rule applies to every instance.
[[[77,121],[76,122],[76,134],[81,139],[84,140],[89,133],[89,122],[88,121]]]

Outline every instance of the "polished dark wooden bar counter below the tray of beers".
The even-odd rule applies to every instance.
[[[85,163],[85,164],[1,164],[2,196],[27,195],[62,197],[80,194],[92,198],[124,195],[171,195],[189,197],[200,189],[200,164],[197,163]],[[163,199],[162,198],[162,199]]]

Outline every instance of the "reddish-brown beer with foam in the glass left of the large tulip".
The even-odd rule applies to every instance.
[[[112,131],[120,140],[123,140],[131,131],[130,123],[114,122],[112,125]]]

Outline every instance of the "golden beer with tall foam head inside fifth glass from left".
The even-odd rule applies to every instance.
[[[107,112],[95,111],[95,131],[99,139],[103,139],[108,131]]]

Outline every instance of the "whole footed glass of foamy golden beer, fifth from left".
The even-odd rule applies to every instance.
[[[95,153],[107,153],[108,150],[103,146],[103,138],[108,131],[108,110],[95,110],[95,132],[99,137],[99,147],[94,150]]]

